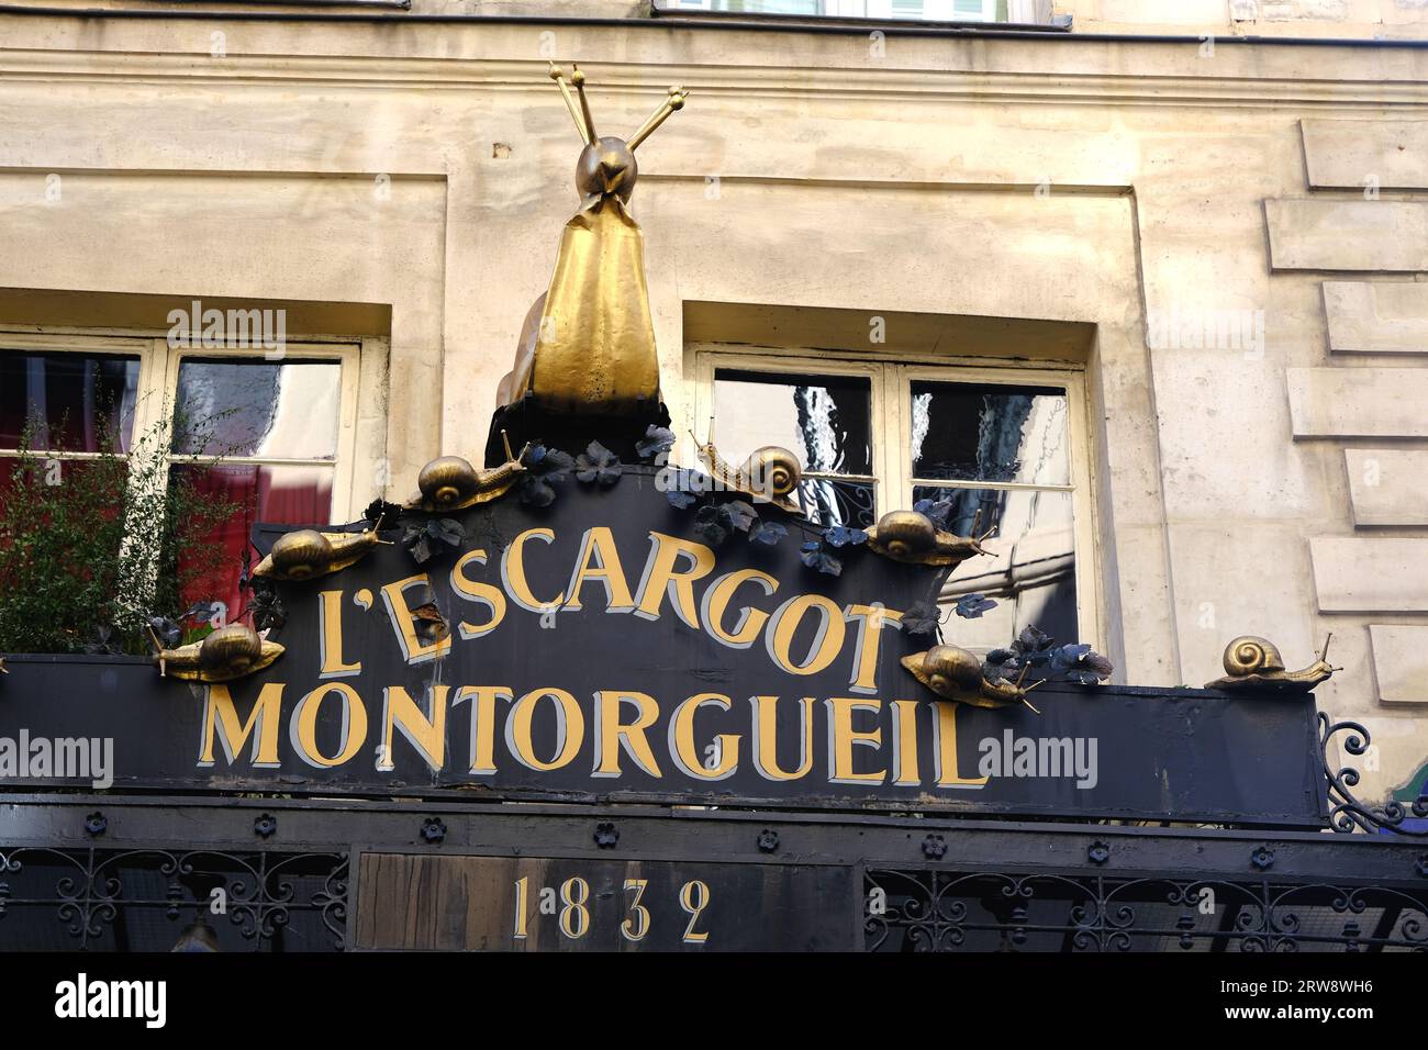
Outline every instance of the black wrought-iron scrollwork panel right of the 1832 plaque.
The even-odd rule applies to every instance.
[[[870,870],[864,891],[870,951],[1428,951],[1428,891],[1385,886]]]

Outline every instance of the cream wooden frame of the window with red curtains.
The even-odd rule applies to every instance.
[[[74,353],[86,356],[111,354],[123,357],[139,357],[139,391],[134,399],[134,420],[131,439],[147,433],[156,424],[164,421],[164,409],[174,404],[178,391],[178,366],[187,359],[233,359],[233,360],[268,360],[270,354],[261,347],[228,349],[228,347],[170,347],[167,333],[163,336],[120,336],[106,333],[86,333],[73,330],[60,334],[40,334],[30,330],[0,329],[0,350],[26,350],[31,353]],[[340,399],[338,399],[338,430],[337,449],[331,460],[318,459],[283,459],[273,456],[233,456],[224,459],[224,464],[234,466],[316,466],[331,467],[333,493],[331,511],[333,521],[344,521],[351,514],[353,477],[356,470],[357,449],[357,399],[361,383],[361,343],[351,337],[304,337],[303,341],[287,341],[284,344],[283,360],[333,360],[341,364]],[[201,461],[206,456],[174,454],[169,449],[169,441],[163,443],[166,466]],[[0,449],[0,457],[13,457],[16,449]],[[33,449],[33,453],[44,453],[57,460],[86,460],[96,459],[100,453],[57,451],[49,449]],[[161,471],[163,483],[169,483],[169,471]],[[323,523],[310,523],[323,524]]]

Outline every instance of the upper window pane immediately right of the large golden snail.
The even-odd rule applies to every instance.
[[[778,444],[804,470],[871,474],[871,413],[865,376],[714,374],[714,444],[735,467],[754,449]]]

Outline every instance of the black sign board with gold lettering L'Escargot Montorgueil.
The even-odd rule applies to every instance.
[[[278,584],[286,653],[250,677],[11,660],[0,737],[110,737],[120,787],[1322,824],[1311,697],[941,700],[900,664],[932,640],[895,614],[942,573],[864,547],[818,571],[818,530],[760,511],[788,536],[715,547],[653,469],[545,509],[511,493],[451,514],[466,540],[424,564],[383,544]],[[0,754],[0,783],[79,783],[56,771]]]

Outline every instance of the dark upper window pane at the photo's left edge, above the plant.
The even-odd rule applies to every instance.
[[[137,394],[137,357],[0,350],[0,449],[127,451]]]

